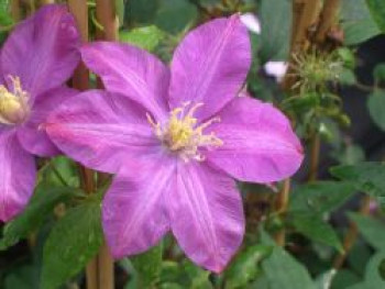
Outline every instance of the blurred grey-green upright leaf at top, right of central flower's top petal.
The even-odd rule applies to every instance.
[[[262,0],[261,15],[261,58],[287,60],[292,36],[292,0]]]

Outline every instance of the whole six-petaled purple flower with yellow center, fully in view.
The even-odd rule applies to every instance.
[[[125,44],[88,44],[81,54],[108,92],[64,103],[46,127],[69,156],[117,173],[102,205],[113,256],[141,253],[172,231],[194,262],[221,271],[244,232],[233,178],[280,180],[302,159],[278,110],[238,97],[251,63],[239,16],[189,33],[170,70]]]

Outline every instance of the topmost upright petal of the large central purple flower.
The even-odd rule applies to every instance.
[[[199,26],[175,52],[170,107],[180,107],[186,101],[202,102],[197,116],[211,116],[239,92],[250,65],[249,34],[239,15]]]

